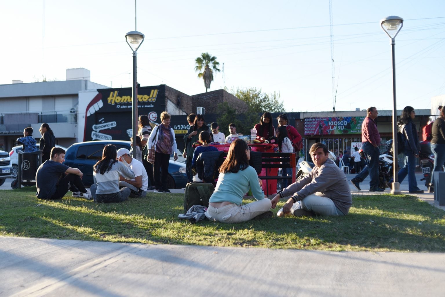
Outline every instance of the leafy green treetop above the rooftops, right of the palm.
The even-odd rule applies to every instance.
[[[256,88],[237,88],[231,92],[240,100],[246,102],[250,113],[284,112],[283,101],[280,101],[280,94],[261,93],[261,89]]]

